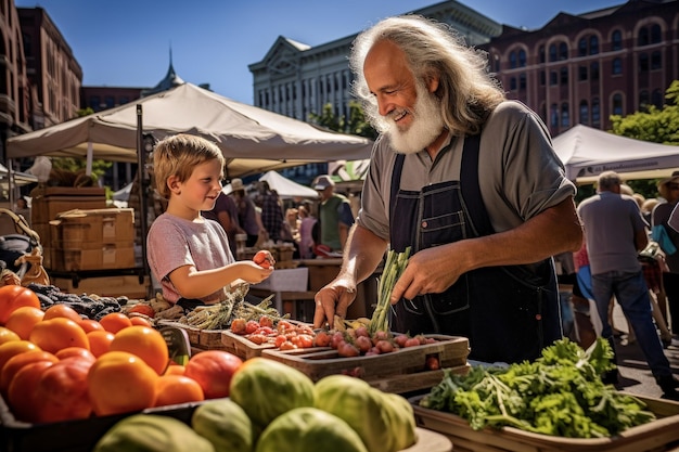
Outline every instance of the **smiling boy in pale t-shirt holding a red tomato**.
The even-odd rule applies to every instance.
[[[225,158],[214,143],[190,134],[161,141],[153,152],[156,190],[167,210],[151,224],[146,242],[149,267],[161,282],[163,297],[190,310],[226,298],[236,280],[259,283],[273,271],[253,261],[235,261],[223,228],[201,216],[221,192]]]

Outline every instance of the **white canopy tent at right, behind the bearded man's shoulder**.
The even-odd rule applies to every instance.
[[[591,182],[603,171],[627,180],[664,178],[679,168],[679,146],[633,140],[577,125],[553,139],[566,177]]]

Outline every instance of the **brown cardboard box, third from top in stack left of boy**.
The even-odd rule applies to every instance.
[[[82,270],[113,270],[133,269],[134,247],[124,243],[104,243],[90,249],[61,249],[57,248],[52,262],[52,270],[82,271]]]

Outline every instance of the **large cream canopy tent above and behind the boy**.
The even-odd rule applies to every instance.
[[[138,109],[141,105],[141,112]],[[368,139],[335,133],[183,83],[137,102],[8,140],[8,158],[65,156],[138,162],[140,131],[155,139],[187,132],[214,141],[240,177],[311,162],[360,159]]]

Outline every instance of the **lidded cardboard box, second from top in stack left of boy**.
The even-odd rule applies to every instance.
[[[102,243],[134,244],[134,209],[74,209],[50,221],[57,230],[62,249],[92,249]]]

